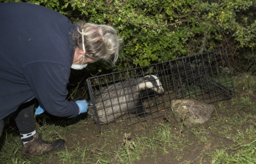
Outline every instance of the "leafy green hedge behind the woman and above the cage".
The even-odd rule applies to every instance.
[[[223,48],[234,55],[239,50],[254,50],[256,44],[256,9],[252,0],[23,2],[49,7],[73,23],[85,20],[115,26],[124,38],[116,70]]]

